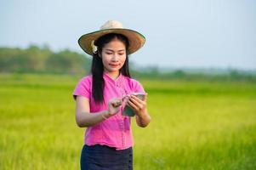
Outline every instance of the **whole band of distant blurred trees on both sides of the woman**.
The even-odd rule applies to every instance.
[[[91,59],[85,54],[79,54],[65,49],[53,52],[47,46],[39,48],[31,45],[29,48],[0,48],[0,73],[50,73],[85,75],[90,71]],[[256,82],[255,71],[162,71],[156,66],[144,69],[131,64],[132,76],[137,78],[187,81],[249,81]]]

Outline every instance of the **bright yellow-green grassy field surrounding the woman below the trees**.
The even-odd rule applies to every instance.
[[[79,169],[80,77],[0,75],[0,169]],[[256,84],[141,81],[149,127],[134,132],[134,169],[256,169]]]

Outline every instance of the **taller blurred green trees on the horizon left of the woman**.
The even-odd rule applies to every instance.
[[[85,55],[68,49],[56,53],[34,45],[0,48],[0,72],[81,74],[88,71],[90,62]]]

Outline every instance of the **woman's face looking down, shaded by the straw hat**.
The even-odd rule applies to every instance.
[[[119,73],[126,59],[126,48],[117,38],[105,44],[101,52],[105,72]]]

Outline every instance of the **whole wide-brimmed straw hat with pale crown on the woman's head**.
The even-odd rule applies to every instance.
[[[138,31],[123,28],[122,23],[117,20],[108,20],[100,27],[100,31],[94,31],[82,35],[82,37],[78,39],[78,43],[85,53],[93,55],[97,50],[97,47],[94,45],[94,41],[109,33],[122,34],[128,38],[128,54],[133,54],[145,43],[145,37],[142,34]]]

